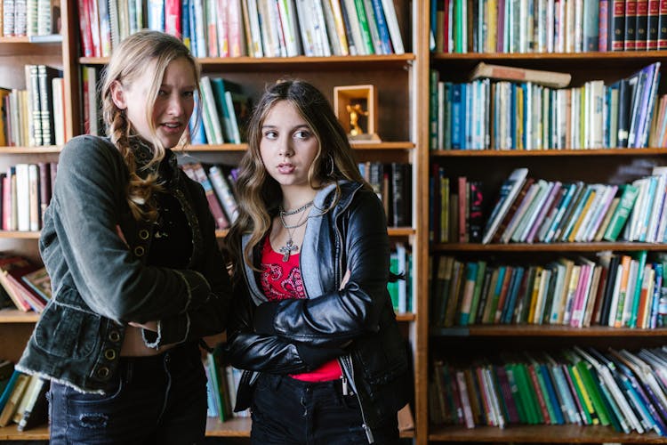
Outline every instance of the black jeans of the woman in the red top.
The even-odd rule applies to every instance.
[[[255,384],[253,444],[367,444],[356,395],[343,395],[341,380],[306,383],[289,376],[261,374]],[[373,431],[374,443],[398,443],[393,416]]]

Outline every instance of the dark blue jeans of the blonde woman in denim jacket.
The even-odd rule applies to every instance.
[[[153,357],[121,358],[113,391],[52,383],[51,444],[173,444],[203,441],[206,376],[197,344]]]

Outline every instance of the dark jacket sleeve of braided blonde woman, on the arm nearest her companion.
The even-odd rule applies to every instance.
[[[174,344],[196,340],[203,336],[221,333],[227,327],[231,303],[231,283],[218,242],[215,239],[215,222],[205,198],[204,189],[196,184],[197,217],[203,237],[204,255],[197,270],[202,272],[211,286],[205,303],[188,312],[160,320],[155,345]],[[155,333],[144,331],[144,337],[155,337]]]

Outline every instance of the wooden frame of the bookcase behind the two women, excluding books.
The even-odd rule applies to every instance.
[[[428,38],[422,34],[426,28],[427,2],[393,0],[405,53],[355,56],[294,57],[199,57],[202,74],[220,76],[237,82],[244,93],[256,100],[267,82],[280,77],[301,77],[317,85],[333,103],[333,87],[337,85],[372,84],[379,93],[377,132],[382,142],[355,142],[359,162],[382,161],[382,163],[406,163],[412,166],[412,223],[407,227],[390,227],[390,241],[401,242],[413,254],[414,311],[398,314],[401,330],[410,340],[414,358],[414,406],[415,429],[402,432],[401,437],[427,441],[426,410],[426,359],[423,343],[428,333],[425,311],[427,274],[422,267],[428,255],[422,233],[422,208],[428,194],[422,190],[421,177],[427,171],[423,163],[428,158],[422,150],[425,135],[422,126],[428,119],[423,104],[427,103],[423,80],[427,78],[429,54]],[[82,91],[82,68],[103,69],[108,57],[84,57],[80,36],[80,20],[83,20],[75,0],[60,0],[61,39],[35,43],[28,37],[0,36],[0,78],[3,85],[26,88],[24,66],[45,64],[62,70],[64,79],[64,102],[66,137],[68,140],[84,133],[84,94]],[[35,40],[35,39],[32,39]],[[57,40],[57,39],[56,39]],[[5,84],[6,83],[6,84]],[[18,163],[53,162],[58,159],[61,146],[0,147],[0,171]],[[192,157],[196,161],[225,166],[236,166],[246,144],[215,144],[190,146],[180,156]],[[216,231],[221,241],[227,231]],[[39,263],[37,240],[39,231],[0,231],[0,251],[12,251],[25,255]],[[427,253],[428,254],[428,253]],[[33,312],[4,310],[0,312],[0,357],[18,360],[28,340],[38,315]],[[250,420],[234,418],[221,423],[209,419],[207,435],[225,438],[233,443],[247,443]],[[0,428],[0,441],[46,440],[48,429],[37,428],[19,433],[16,426]]]

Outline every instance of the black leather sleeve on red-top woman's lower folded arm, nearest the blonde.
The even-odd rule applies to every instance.
[[[272,374],[296,374],[316,369],[344,353],[339,348],[313,348],[254,332],[253,307],[245,287],[236,286],[225,347],[226,359],[232,366]]]

